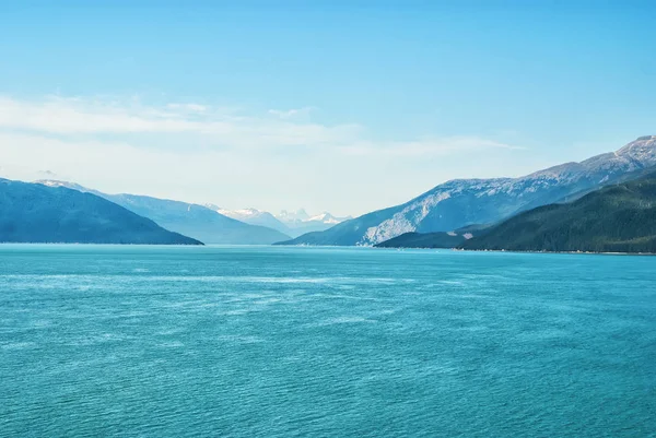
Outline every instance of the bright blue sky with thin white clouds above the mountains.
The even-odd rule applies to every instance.
[[[359,215],[656,134],[654,1],[0,0],[0,177]]]

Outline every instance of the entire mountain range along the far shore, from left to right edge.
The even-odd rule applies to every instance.
[[[648,250],[654,169],[656,135],[645,135],[519,178],[447,181],[356,218],[230,211],[66,181],[0,179],[0,240]],[[622,232],[611,233],[613,226]]]

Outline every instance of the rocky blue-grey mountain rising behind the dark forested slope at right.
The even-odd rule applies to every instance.
[[[452,180],[405,204],[280,245],[376,245],[410,232],[449,232],[469,224],[492,224],[536,206],[575,199],[653,165],[656,135],[641,137],[617,152],[519,178]]]

